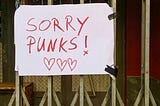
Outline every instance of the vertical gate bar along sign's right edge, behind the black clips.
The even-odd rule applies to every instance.
[[[112,0],[113,12],[116,13],[116,0]],[[114,65],[116,66],[116,18],[114,18]],[[111,81],[112,83],[112,106],[116,106],[116,80]]]

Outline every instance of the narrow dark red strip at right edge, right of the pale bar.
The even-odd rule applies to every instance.
[[[150,2],[150,76],[160,80],[160,0]]]

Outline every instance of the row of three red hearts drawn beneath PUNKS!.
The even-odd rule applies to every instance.
[[[69,69],[73,71],[76,68],[77,60],[73,60],[72,58],[68,58],[67,60],[62,60],[61,58],[43,58],[44,65],[47,67],[48,71],[52,69],[52,67],[57,64],[61,72],[66,68],[68,64]]]

